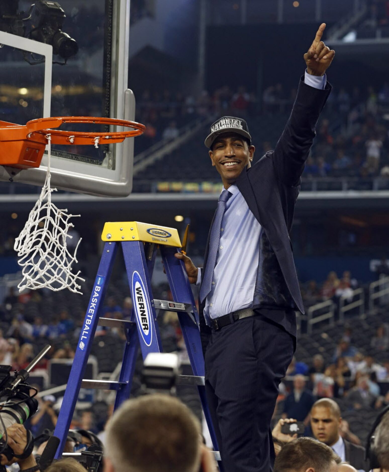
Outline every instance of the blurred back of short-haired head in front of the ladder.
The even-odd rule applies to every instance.
[[[200,434],[199,421],[177,398],[127,400],[107,425],[105,472],[197,472],[200,464],[216,471]]]

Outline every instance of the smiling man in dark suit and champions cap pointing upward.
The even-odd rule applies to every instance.
[[[289,232],[335,55],[321,41],[324,28],[304,55],[307,70],[274,152],[251,166],[245,120],[211,126],[205,145],[224,188],[203,269],[176,254],[200,286],[205,388],[227,472],[269,472],[274,463],[271,416],[296,347],[295,310],[304,312]]]

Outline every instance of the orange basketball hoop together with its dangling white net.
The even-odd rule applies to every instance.
[[[57,128],[63,123],[93,123],[134,128],[117,132],[82,132],[62,131]],[[78,262],[76,253],[67,247],[70,228],[74,228],[70,219],[80,215],[68,214],[67,209],[60,210],[51,202],[50,159],[51,144],[94,145],[121,143],[127,137],[141,135],[145,126],[133,121],[101,117],[57,117],[39,118],[26,123],[25,126],[0,121],[0,165],[28,169],[39,167],[46,145],[48,145],[47,174],[41,194],[31,210],[25,227],[15,240],[14,249],[22,267],[23,280],[19,291],[25,288],[50,288],[58,291],[68,288],[79,293],[79,283],[85,281],[79,276],[80,271],[73,273],[72,265]]]

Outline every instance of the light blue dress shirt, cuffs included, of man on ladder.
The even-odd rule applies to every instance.
[[[324,89],[326,76],[311,76],[305,72],[304,82]],[[221,229],[211,292],[205,300],[207,324],[244,308],[253,306],[254,289],[259,263],[259,239],[262,227],[248,208],[236,185],[228,187],[232,196],[227,201]],[[199,269],[196,285],[201,284]]]

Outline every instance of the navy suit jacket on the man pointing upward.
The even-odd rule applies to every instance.
[[[243,170],[236,182],[249,209],[262,226],[253,308],[283,326],[294,337],[295,310],[304,313],[304,306],[289,232],[305,160],[330,90],[329,83],[324,90],[319,90],[306,85],[302,77],[291,115],[274,151],[267,152],[252,167]],[[209,237],[204,268],[208,258]],[[203,349],[210,335],[203,316],[204,306],[205,300],[199,306]]]

